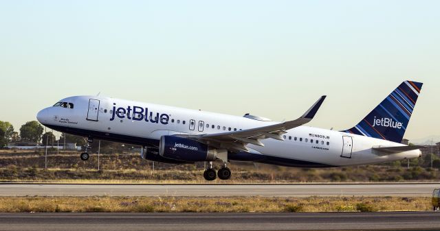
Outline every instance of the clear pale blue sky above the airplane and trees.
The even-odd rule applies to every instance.
[[[0,120],[72,95],[343,130],[423,82],[407,138],[440,134],[440,1],[0,1]]]

